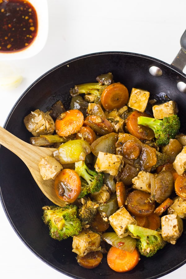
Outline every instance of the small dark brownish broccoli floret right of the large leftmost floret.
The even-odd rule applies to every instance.
[[[98,210],[98,204],[94,201],[87,201],[79,209],[79,219],[82,222],[82,226],[86,224],[91,224],[95,218]]]

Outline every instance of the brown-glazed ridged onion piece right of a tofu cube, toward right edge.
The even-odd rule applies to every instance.
[[[162,203],[174,189],[173,175],[169,170],[163,170],[151,179],[151,200]]]

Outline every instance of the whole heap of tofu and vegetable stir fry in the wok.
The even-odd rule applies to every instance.
[[[127,272],[182,235],[186,135],[174,100],[152,104],[145,88],[129,94],[112,73],[96,81],[69,89],[70,108],[59,100],[24,123],[31,144],[56,148],[40,162],[67,204],[43,205],[51,237],[72,238],[83,268],[106,257],[114,271]]]

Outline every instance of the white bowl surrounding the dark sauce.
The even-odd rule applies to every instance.
[[[0,61],[24,59],[36,55],[44,47],[48,36],[48,3],[47,0],[28,0],[35,8],[38,17],[37,36],[30,46],[14,52],[0,52]]]

